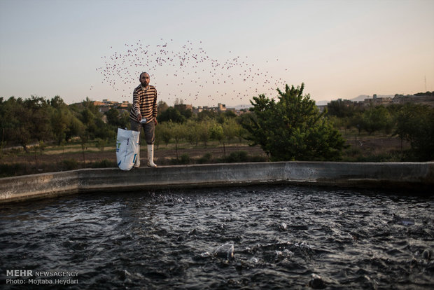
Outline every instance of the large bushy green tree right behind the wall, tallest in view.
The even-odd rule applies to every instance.
[[[345,140],[303,90],[304,83],[297,88],[286,85],[284,92],[277,89],[278,102],[265,95],[253,97],[252,113],[242,124],[246,138],[273,161],[339,159]]]

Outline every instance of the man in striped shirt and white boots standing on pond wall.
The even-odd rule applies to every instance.
[[[155,125],[157,122],[157,90],[149,85],[150,76],[143,72],[139,76],[140,85],[134,89],[132,108],[130,111],[131,130],[141,131],[144,127],[146,144],[148,144],[148,166],[157,167],[154,163]],[[140,146],[134,167],[140,167]]]

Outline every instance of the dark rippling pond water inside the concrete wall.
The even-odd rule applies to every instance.
[[[297,186],[2,205],[0,275],[6,289],[433,289],[433,206]]]

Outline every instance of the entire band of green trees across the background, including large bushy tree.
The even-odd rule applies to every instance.
[[[304,84],[297,88],[286,85],[284,91],[277,90],[276,100],[265,95],[253,97],[250,112],[241,116],[230,111],[194,115],[182,103],[169,107],[160,102],[156,142],[173,141],[177,149],[181,141],[207,145],[214,139],[225,151],[225,145],[238,138],[260,145],[271,160],[338,160],[346,147],[338,129],[356,127],[369,134],[379,130],[395,134],[410,141],[416,159],[434,159],[433,108],[405,104],[363,109],[338,100],[320,112],[303,90]],[[59,96],[50,100],[35,96],[0,98],[2,147],[20,145],[27,151],[35,142],[62,145],[75,138],[83,149],[94,140],[104,148],[114,143],[118,127],[129,126],[128,110],[111,109],[102,114],[90,99],[68,106]]]

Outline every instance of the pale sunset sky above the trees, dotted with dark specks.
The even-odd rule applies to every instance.
[[[434,90],[433,0],[0,0],[0,97],[319,104]]]

